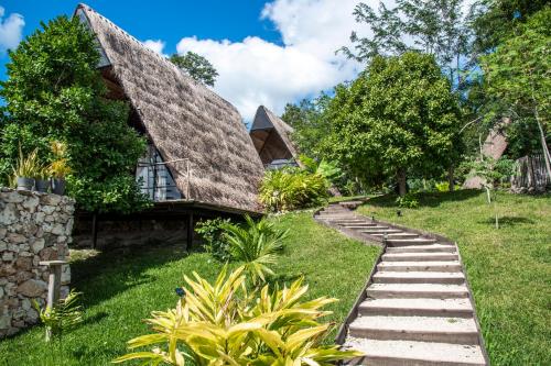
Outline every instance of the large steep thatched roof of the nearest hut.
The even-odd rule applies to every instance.
[[[169,164],[186,199],[259,211],[262,164],[237,109],[88,5],[79,10],[164,160],[190,159],[190,186],[186,163]]]

